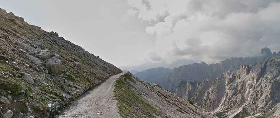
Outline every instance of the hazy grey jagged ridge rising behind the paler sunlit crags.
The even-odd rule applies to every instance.
[[[276,57],[278,54],[280,54],[280,52],[272,53],[269,48],[263,48],[258,57],[232,57],[216,64],[206,64],[205,62],[201,62],[180,66],[170,71],[167,75],[163,76],[163,78],[156,80],[156,84],[162,85],[163,88],[171,92],[176,92],[177,89],[183,89],[178,88],[181,81],[194,80],[202,82],[207,78],[214,80],[225,72],[236,73],[239,66],[242,64],[254,65],[259,60]]]

